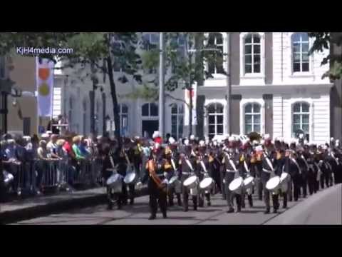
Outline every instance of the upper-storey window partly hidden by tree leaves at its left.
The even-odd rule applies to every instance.
[[[223,74],[223,36],[221,33],[210,33],[208,39],[208,47],[217,49],[215,51],[213,60],[208,63],[209,74]]]

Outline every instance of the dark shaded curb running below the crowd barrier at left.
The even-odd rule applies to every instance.
[[[142,188],[136,192],[135,197],[146,196],[147,188]],[[80,198],[71,198],[53,203],[46,203],[27,208],[21,208],[14,211],[4,211],[0,213],[0,224],[15,223],[41,216],[48,216],[54,213],[61,213],[75,208],[86,208],[104,204],[107,201],[105,194],[95,194],[94,196],[85,196]]]

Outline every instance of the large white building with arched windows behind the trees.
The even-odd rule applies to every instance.
[[[227,58],[222,65],[207,64],[212,79],[197,86],[197,136],[212,137],[227,133],[227,84],[232,85],[232,133],[257,131],[269,133],[273,138],[291,138],[297,129],[306,132],[309,141],[325,142],[330,138],[330,90],[328,79],[321,79],[327,66],[321,66],[322,54],[309,56],[312,44],[306,33],[230,33],[212,34],[209,40],[222,49]],[[159,42],[158,34],[147,33],[150,44]],[[224,69],[226,75],[220,74]],[[86,72],[82,71],[81,72]],[[65,74],[68,73],[68,79]],[[120,71],[115,71],[118,78]],[[56,74],[57,94],[55,111],[68,116],[73,131],[89,133],[90,80],[80,81],[75,71]],[[170,71],[169,71],[170,75]],[[147,74],[154,76],[153,74]],[[139,85],[130,80],[127,84],[116,81],[120,102],[121,131],[126,135],[140,135],[158,128],[157,103],[144,99],[128,99],[123,95]],[[105,101],[96,91],[95,114],[98,132],[102,133],[103,104],[105,116],[113,121],[108,79],[103,84]],[[176,99],[185,99],[181,89],[169,93]],[[63,101],[59,101],[63,99]],[[166,98],[165,133],[176,138],[187,136],[184,121],[187,108],[181,101]],[[107,126],[110,128],[110,126]]]

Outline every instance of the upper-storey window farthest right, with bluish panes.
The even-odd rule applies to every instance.
[[[296,33],[291,36],[293,53],[293,71],[309,71],[309,36],[306,33]]]

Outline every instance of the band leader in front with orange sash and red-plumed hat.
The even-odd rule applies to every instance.
[[[157,206],[159,204],[162,217],[167,218],[167,179],[165,178],[165,161],[162,159],[159,143],[155,143],[155,149],[151,152],[150,159],[146,163],[146,173],[141,182],[137,183],[140,188],[146,183],[150,195],[150,218],[157,217]]]

